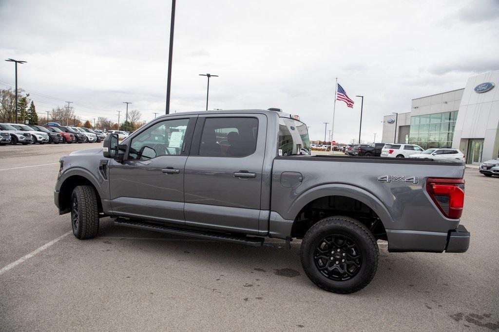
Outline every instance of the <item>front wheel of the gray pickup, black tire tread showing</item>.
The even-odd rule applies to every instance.
[[[71,194],[71,225],[80,240],[93,238],[99,231],[97,195],[92,186],[76,186]]]

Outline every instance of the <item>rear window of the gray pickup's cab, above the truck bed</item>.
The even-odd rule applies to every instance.
[[[310,141],[305,123],[279,117],[278,155],[310,154]]]

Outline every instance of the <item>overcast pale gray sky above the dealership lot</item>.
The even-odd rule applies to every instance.
[[[82,119],[164,113],[171,2],[0,0],[0,54],[25,60],[19,88],[38,112],[72,101]],[[499,0],[178,0],[172,111],[282,108],[324,138],[335,78],[355,101],[336,103],[334,136],[381,138],[382,116],[411,99],[464,88],[499,69]],[[14,84],[0,64],[0,87]],[[124,114],[124,112],[122,112]],[[123,120],[123,117],[121,118]],[[331,129],[331,124],[328,125]]]

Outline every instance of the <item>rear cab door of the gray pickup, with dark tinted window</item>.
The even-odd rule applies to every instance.
[[[186,225],[258,234],[267,118],[206,114],[185,168]]]

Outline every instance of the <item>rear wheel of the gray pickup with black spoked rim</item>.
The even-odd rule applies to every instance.
[[[330,243],[324,245],[327,239]],[[308,278],[323,290],[339,294],[366,287],[376,274],[378,255],[378,244],[371,231],[359,221],[343,216],[328,217],[314,224],[303,237],[300,248],[301,265]],[[355,265],[342,264],[342,257],[347,262],[355,261]]]

